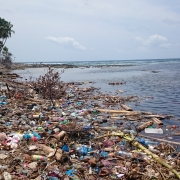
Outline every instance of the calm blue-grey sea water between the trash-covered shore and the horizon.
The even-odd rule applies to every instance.
[[[101,91],[105,93],[115,94],[117,90],[122,90],[122,96],[137,95],[139,101],[129,103],[128,106],[134,110],[174,115],[177,120],[172,120],[172,123],[179,124],[180,59],[61,61],[46,62],[46,64],[78,65],[79,68],[65,69],[61,80],[65,82],[92,81],[93,84],[87,84],[87,86],[101,88]],[[82,66],[88,66],[88,68]],[[13,72],[20,74],[23,79],[35,80],[45,74],[47,69],[27,68]],[[109,85],[109,82],[123,82],[123,84],[113,86]]]

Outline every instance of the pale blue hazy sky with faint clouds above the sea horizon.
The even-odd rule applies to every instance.
[[[179,0],[0,0],[15,62],[180,58]]]

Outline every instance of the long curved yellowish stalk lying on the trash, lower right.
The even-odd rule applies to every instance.
[[[137,147],[139,149],[141,149],[142,151],[144,151],[147,155],[150,155],[153,157],[153,159],[160,163],[161,165],[163,165],[164,167],[168,168],[169,171],[173,172],[177,177],[178,179],[180,179],[180,174],[179,172],[177,172],[175,169],[173,169],[172,166],[170,166],[169,164],[167,164],[165,162],[165,160],[161,159],[158,155],[152,153],[151,151],[149,151],[148,149],[146,149],[143,145],[141,145],[140,143],[138,143],[137,141],[134,140],[134,137],[130,137],[128,136],[127,134],[124,134],[123,132],[121,131],[118,131],[118,132],[112,132],[112,133],[107,133],[105,135],[102,135],[102,136],[99,136],[99,137],[96,137],[94,138],[94,140],[96,139],[99,139],[99,138],[103,138],[103,137],[108,137],[108,136],[118,136],[118,137],[121,137],[121,138],[124,138],[126,141],[129,141],[131,142],[131,144],[134,146],[134,147]]]

